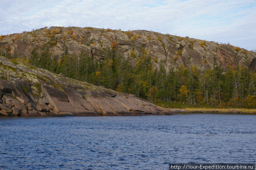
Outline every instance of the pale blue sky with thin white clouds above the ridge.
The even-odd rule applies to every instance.
[[[256,50],[256,0],[1,0],[0,34],[51,26],[148,30]]]

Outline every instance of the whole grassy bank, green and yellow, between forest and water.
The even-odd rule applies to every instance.
[[[246,109],[246,108],[217,108],[212,107],[207,104],[192,105],[188,103],[178,103],[178,102],[159,102],[156,105],[164,108],[170,109],[181,109],[185,112],[203,112],[203,113],[250,113],[256,115],[256,109]]]

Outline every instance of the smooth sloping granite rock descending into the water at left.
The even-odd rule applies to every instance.
[[[131,94],[118,93],[0,57],[0,116],[172,115]]]

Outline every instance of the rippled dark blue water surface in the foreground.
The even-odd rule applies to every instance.
[[[0,169],[255,163],[256,116],[0,118]]]

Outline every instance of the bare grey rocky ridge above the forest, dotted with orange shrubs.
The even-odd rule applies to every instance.
[[[256,52],[253,51],[145,30],[50,27],[0,37],[0,53],[5,56],[28,59],[34,47],[38,54],[49,49],[57,60],[60,60],[66,49],[69,54],[77,56],[83,50],[88,56],[93,55],[98,59],[104,59],[106,50],[114,49],[125,57],[139,56],[144,50],[151,55],[154,67],[159,66],[159,61],[163,61],[166,68],[182,63],[185,66],[197,65],[202,70],[213,68],[214,63],[221,63],[224,70],[229,65],[254,70],[256,65]]]

